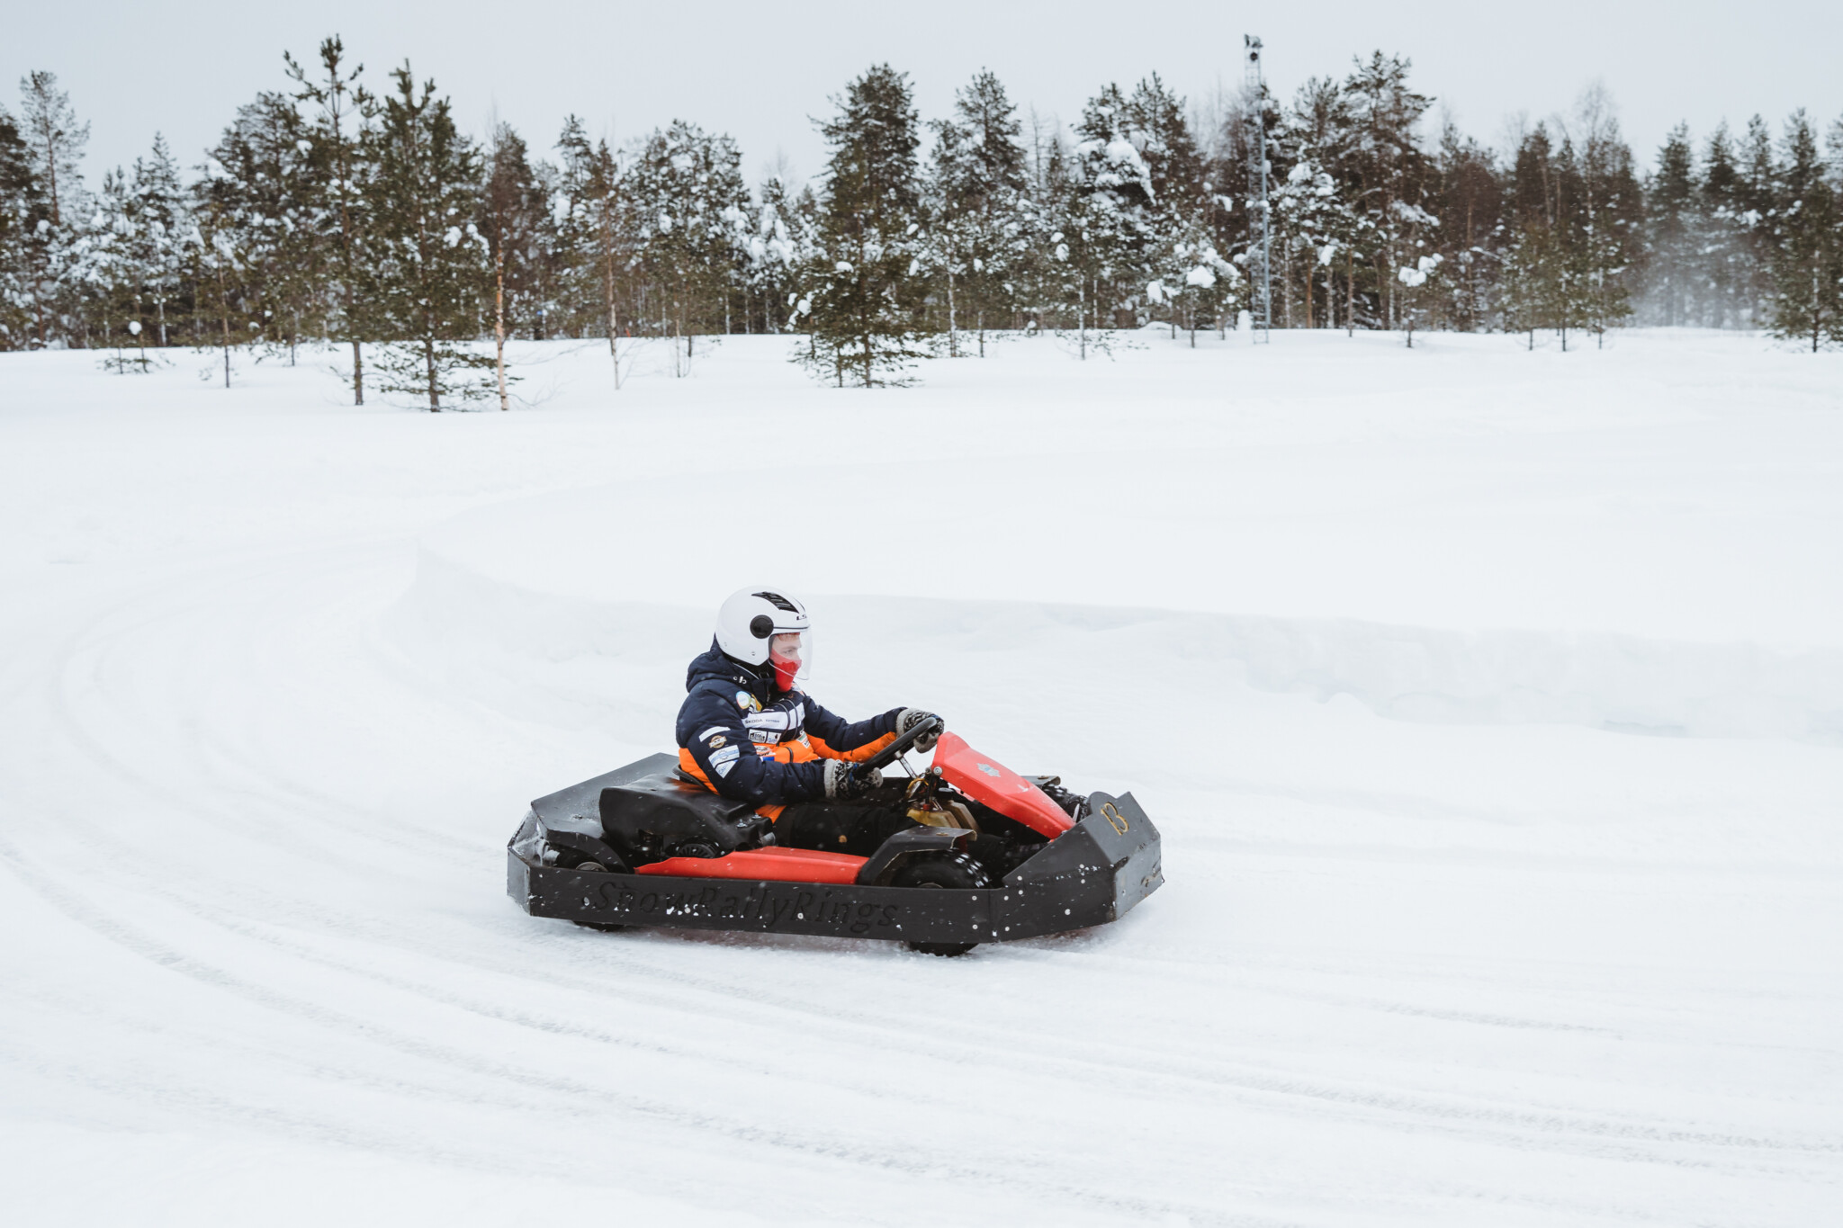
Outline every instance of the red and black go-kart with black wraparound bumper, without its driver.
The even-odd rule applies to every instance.
[[[938,735],[923,771],[907,753]],[[1159,834],[1132,794],[1078,795],[947,733],[910,727],[870,768],[901,764],[918,823],[868,858],[774,843],[774,823],[651,755],[538,797],[507,845],[507,895],[595,930],[684,926],[896,939],[934,956],[1119,921],[1165,882]],[[995,878],[968,854],[1008,845]]]

